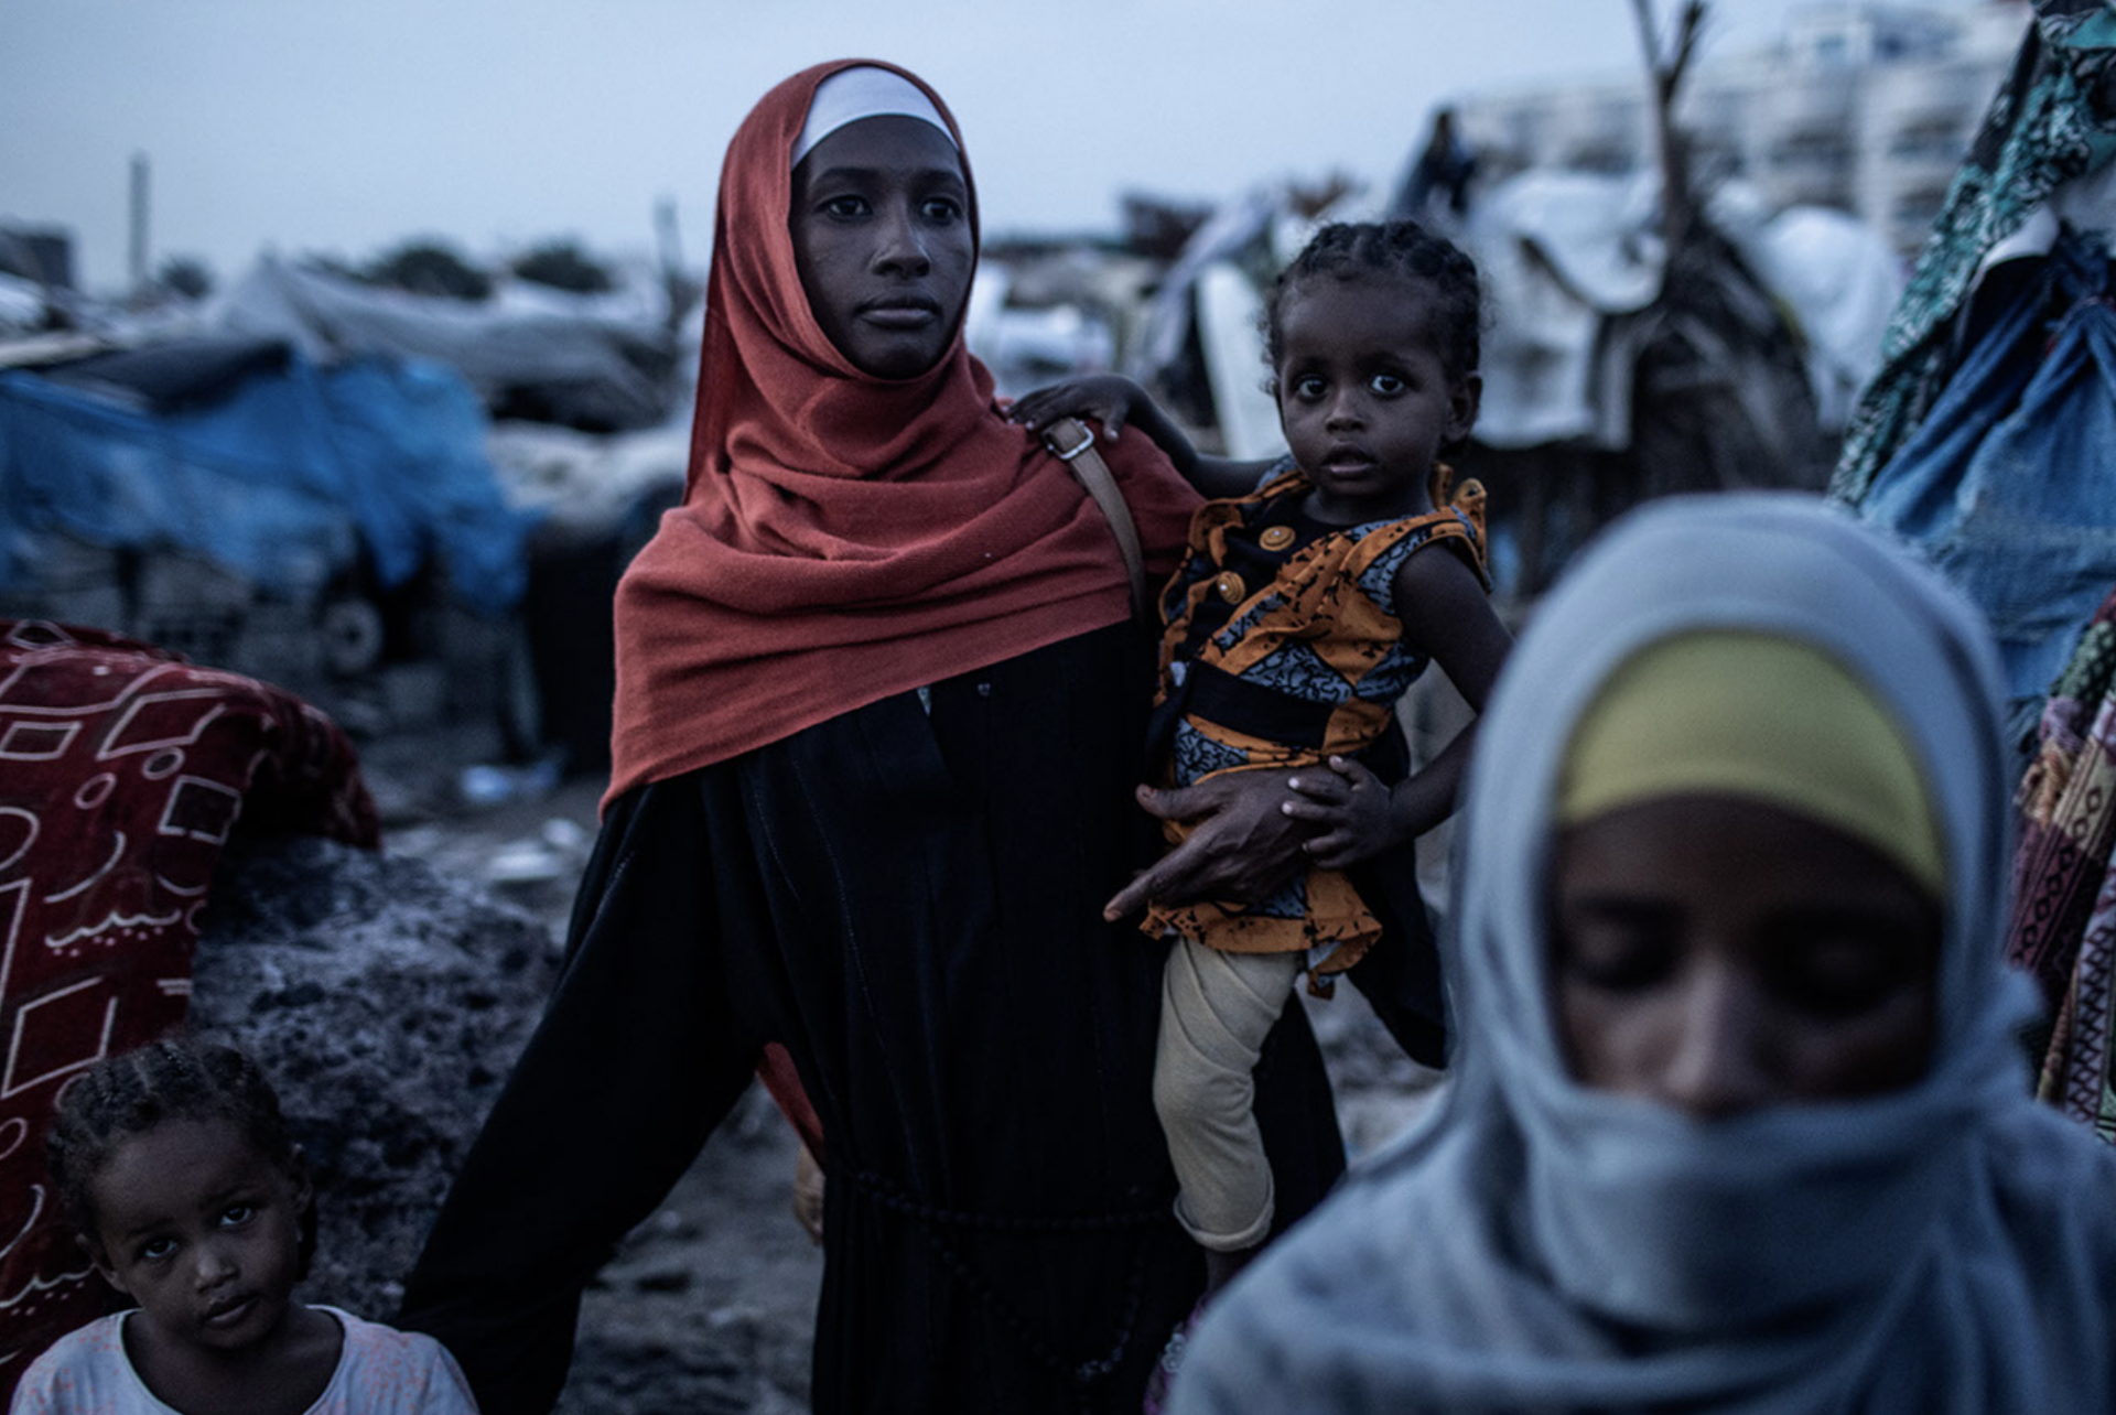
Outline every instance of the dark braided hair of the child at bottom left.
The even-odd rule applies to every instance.
[[[233,1047],[163,1039],[97,1062],[66,1087],[44,1161],[68,1218],[95,1235],[95,1176],[127,1140],[163,1121],[229,1121],[279,1170],[296,1168],[279,1096]],[[300,1220],[300,1271],[315,1252],[315,1206]]]

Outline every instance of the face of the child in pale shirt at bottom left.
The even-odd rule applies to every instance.
[[[118,1144],[91,1195],[91,1256],[148,1339],[235,1352],[281,1328],[311,1197],[298,1157],[290,1174],[226,1119],[161,1121]]]

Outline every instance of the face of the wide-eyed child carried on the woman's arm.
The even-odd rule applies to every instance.
[[[1278,311],[1278,421],[1333,525],[1411,516],[1445,442],[1477,421],[1479,381],[1447,376],[1420,279],[1312,277]]]

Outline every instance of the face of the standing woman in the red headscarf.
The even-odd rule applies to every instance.
[[[787,224],[808,307],[853,368],[914,379],[940,362],[978,267],[946,133],[904,116],[840,127],[794,167]]]

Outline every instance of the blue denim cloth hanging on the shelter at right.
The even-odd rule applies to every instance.
[[[2099,243],[2059,241],[1858,510],[1983,607],[2008,696],[2050,690],[2116,586],[2116,307]]]

